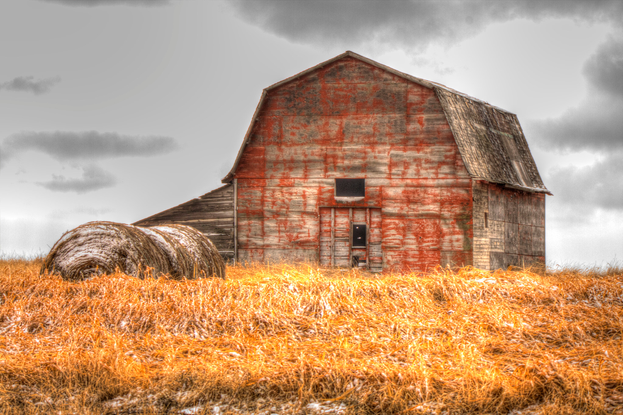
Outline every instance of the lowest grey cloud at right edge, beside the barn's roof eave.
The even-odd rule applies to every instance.
[[[556,203],[576,211],[595,207],[623,211],[623,151],[610,153],[592,166],[554,168],[546,181]]]

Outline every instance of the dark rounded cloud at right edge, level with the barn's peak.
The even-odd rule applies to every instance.
[[[584,65],[584,75],[598,90],[623,97],[623,41],[611,37],[599,46]]]

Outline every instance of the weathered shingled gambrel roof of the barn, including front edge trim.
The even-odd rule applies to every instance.
[[[234,177],[235,169],[240,162],[240,157],[249,140],[250,133],[253,130],[255,120],[259,115],[267,93],[273,88],[277,88],[284,83],[302,77],[313,70],[347,56],[362,60],[391,72],[391,74],[435,90],[444,108],[445,116],[467,171],[472,178],[485,179],[493,183],[501,183],[508,187],[525,191],[550,194],[541,180],[535,161],[530,154],[528,143],[521,130],[519,120],[515,114],[448,88],[440,83],[404,74],[404,72],[374,62],[374,60],[350,50],[264,88],[242,146],[240,146],[234,166],[227,176],[222,179],[222,183],[229,183]]]

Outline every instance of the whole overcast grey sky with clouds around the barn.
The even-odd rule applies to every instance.
[[[623,259],[623,1],[0,2],[0,250],[221,186],[262,88],[353,50],[515,112],[549,264]]]

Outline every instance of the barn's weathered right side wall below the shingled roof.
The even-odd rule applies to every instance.
[[[545,264],[545,194],[483,181],[475,181],[473,194],[475,267],[495,270]]]

